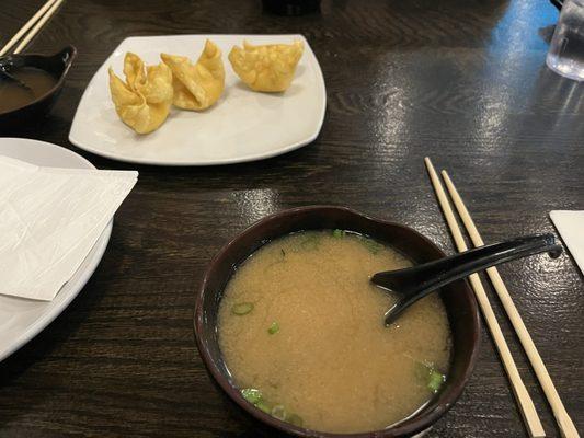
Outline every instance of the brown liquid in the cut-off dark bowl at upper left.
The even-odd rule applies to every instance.
[[[34,67],[11,68],[9,73],[28,85],[30,90],[0,74],[0,113],[18,110],[36,101],[57,83],[57,79],[48,71]]]

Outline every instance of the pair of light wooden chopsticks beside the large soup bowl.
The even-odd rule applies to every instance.
[[[430,173],[430,177],[432,180],[432,185],[434,186],[434,189],[436,192],[438,203],[442,207],[444,216],[446,217],[446,221],[455,240],[456,246],[459,252],[467,251],[468,246],[456,221],[456,217],[453,212],[450,201],[446,196],[446,193],[436,173],[436,170],[434,169],[434,165],[432,164],[430,158],[426,157],[424,161]],[[458,194],[458,191],[456,189],[453,181],[450,180],[446,171],[442,171],[442,176],[446,183],[448,193],[456,206],[458,215],[462,219],[462,223],[465,224],[473,245],[484,245],[484,242],[481,235],[479,234],[479,231],[477,230],[477,227],[474,226],[474,222],[470,217],[470,214],[468,212],[467,207],[462,201],[462,198]],[[546,366],[543,365],[543,361],[541,360],[541,357],[539,356],[539,353],[534,342],[531,341],[531,336],[529,335],[529,332],[527,331],[522,320],[522,316],[519,315],[519,312],[517,311],[517,308],[515,307],[513,299],[511,298],[509,292],[505,287],[505,284],[503,283],[503,279],[501,278],[501,275],[499,275],[499,270],[496,269],[496,267],[490,267],[486,269],[486,274],[489,275],[491,283],[493,284],[493,288],[495,289],[499,298],[501,299],[501,302],[503,303],[503,308],[505,309],[505,312],[507,313],[512,325],[515,332],[517,333],[517,336],[519,337],[519,342],[522,343],[522,346],[525,349],[527,357],[529,358],[531,367],[536,372],[539,383],[543,389],[543,393],[546,394],[546,397],[548,399],[548,402],[551,406],[562,437],[579,438],[580,435],[574,424],[572,423],[572,419],[568,415],[568,412],[565,411],[565,407],[563,406],[563,403],[560,400],[560,396],[558,395],[558,391],[556,391],[548,370],[546,369]],[[507,343],[503,337],[503,332],[501,331],[499,322],[496,321],[495,314],[493,312],[491,303],[489,302],[489,298],[486,296],[479,275],[472,274],[469,277],[469,281],[472,286],[472,289],[474,290],[474,295],[477,297],[477,300],[479,301],[482,314],[484,316],[484,320],[486,321],[489,331],[491,332],[491,335],[495,342],[495,346],[501,356],[501,360],[503,361],[505,371],[507,372],[508,379],[512,384],[513,393],[515,394],[515,397],[519,405],[524,422],[527,427],[527,431],[529,433],[529,436],[534,438],[545,437],[546,431],[543,430],[539,416],[536,412],[534,402],[531,401],[531,397],[529,396],[529,393],[525,388],[522,377],[519,376],[517,366],[515,365],[515,360],[511,355]]]

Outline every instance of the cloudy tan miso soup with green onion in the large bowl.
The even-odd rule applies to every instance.
[[[340,230],[261,247],[219,309],[219,345],[238,387],[260,391],[260,408],[321,431],[377,430],[413,414],[434,395],[428,376],[447,374],[451,343],[436,293],[385,327],[394,299],[369,277],[408,266],[391,247]]]

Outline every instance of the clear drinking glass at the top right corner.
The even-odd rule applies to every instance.
[[[584,81],[584,0],[565,0],[546,58],[561,76]]]

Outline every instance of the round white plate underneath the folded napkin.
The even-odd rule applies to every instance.
[[[24,138],[0,138],[0,155],[53,168],[95,169],[83,157],[68,149]],[[111,233],[112,221],[53,301],[34,301],[0,295],[0,360],[31,341],[67,308],[98,267]]]

